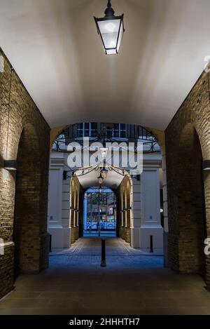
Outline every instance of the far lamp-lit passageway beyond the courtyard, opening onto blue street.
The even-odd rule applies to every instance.
[[[118,171],[117,171],[118,170]],[[90,234],[118,236],[131,244],[132,178],[116,168],[102,186],[97,187],[100,168],[92,174],[76,171],[70,182],[71,243]],[[92,187],[91,187],[92,186]],[[113,188],[115,187],[115,188]]]

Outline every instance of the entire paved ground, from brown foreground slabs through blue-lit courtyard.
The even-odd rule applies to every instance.
[[[161,256],[122,255],[119,242],[108,242],[106,268],[96,250],[85,254],[99,250],[99,240],[80,241],[78,253],[50,256],[48,270],[18,277],[0,314],[210,314],[200,276],[163,268]]]

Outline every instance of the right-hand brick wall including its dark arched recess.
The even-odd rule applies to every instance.
[[[207,73],[203,72],[195,83],[165,135],[169,267],[181,272],[198,272],[206,262],[210,286],[210,257],[204,259],[205,229],[210,237],[210,173],[202,172],[202,160],[210,159]],[[202,197],[203,183],[205,197]]]

